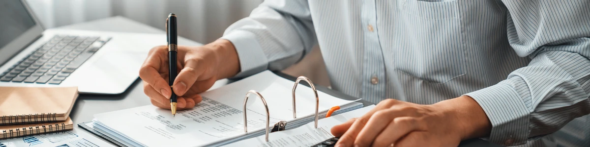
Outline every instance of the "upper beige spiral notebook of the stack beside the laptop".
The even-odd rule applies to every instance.
[[[0,125],[65,121],[77,98],[77,87],[0,86]]]

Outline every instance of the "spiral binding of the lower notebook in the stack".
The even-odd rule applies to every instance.
[[[39,135],[41,133],[59,132],[59,131],[64,131],[64,130],[65,130],[65,123],[61,123],[61,124],[55,123],[54,125],[47,125],[47,126],[41,125],[41,127],[35,126],[34,128],[33,128],[33,126],[29,126],[28,130],[27,130],[27,127],[23,127],[22,129],[17,128],[14,130],[8,129],[8,131],[2,130],[2,138],[1,139],[15,138],[15,137],[21,137],[21,136],[30,136],[30,135]]]

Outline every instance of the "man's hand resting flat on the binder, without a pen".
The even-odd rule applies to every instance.
[[[468,96],[418,105],[386,99],[360,118],[334,126],[336,146],[458,146],[489,135],[486,113]]]

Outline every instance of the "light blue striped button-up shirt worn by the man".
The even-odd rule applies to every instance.
[[[238,76],[284,69],[319,44],[337,91],[375,103],[468,95],[491,142],[590,146],[589,36],[588,0],[277,0],[222,38]]]

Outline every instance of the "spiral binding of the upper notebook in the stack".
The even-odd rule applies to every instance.
[[[22,123],[56,122],[57,113],[35,113],[29,115],[2,116],[0,125],[14,125]]]

